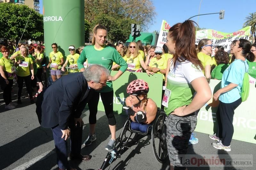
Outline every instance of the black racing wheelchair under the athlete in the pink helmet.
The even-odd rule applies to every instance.
[[[119,137],[116,138],[116,144],[114,149],[111,152],[108,152],[100,169],[103,170],[107,168],[115,159],[121,158],[121,155],[127,149],[130,149],[132,145],[138,144],[139,141],[135,139],[135,136],[137,135],[142,135],[142,136],[151,135],[151,139],[152,139],[151,143],[152,143],[154,156],[158,162],[164,163],[168,159],[165,119],[166,119],[165,112],[158,107],[155,120],[148,126],[147,132],[142,133],[140,131],[133,130],[131,128],[132,120],[130,119],[130,116],[128,116],[126,118],[124,127]]]

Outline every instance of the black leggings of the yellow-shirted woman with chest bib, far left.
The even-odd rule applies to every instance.
[[[33,99],[32,97],[32,89],[31,89],[31,75],[29,76],[25,76],[25,77],[21,77],[21,76],[17,76],[18,77],[18,99],[20,99],[21,96],[21,92],[22,92],[22,88],[23,88],[23,81],[25,80],[25,85],[27,87],[27,91],[28,91],[28,95],[30,99]]]

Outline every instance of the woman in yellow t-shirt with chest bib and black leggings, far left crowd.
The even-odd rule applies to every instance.
[[[28,95],[30,98],[30,103],[35,103],[32,96],[31,89],[31,80],[34,79],[34,68],[33,68],[33,60],[28,57],[28,48],[22,47],[20,48],[20,55],[15,58],[15,67],[17,67],[17,83],[18,83],[18,104],[21,104],[21,92],[23,88],[23,82],[25,81]],[[31,75],[30,75],[31,71]]]

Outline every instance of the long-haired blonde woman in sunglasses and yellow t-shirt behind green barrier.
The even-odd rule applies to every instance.
[[[128,68],[127,71],[142,72],[142,68],[146,71],[148,76],[155,74],[148,70],[144,63],[143,57],[139,52],[138,45],[135,42],[129,44],[129,50],[126,53]]]

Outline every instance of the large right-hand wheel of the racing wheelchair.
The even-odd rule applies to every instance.
[[[168,159],[165,118],[164,113],[157,114],[151,130],[153,152],[160,163],[164,163]]]

